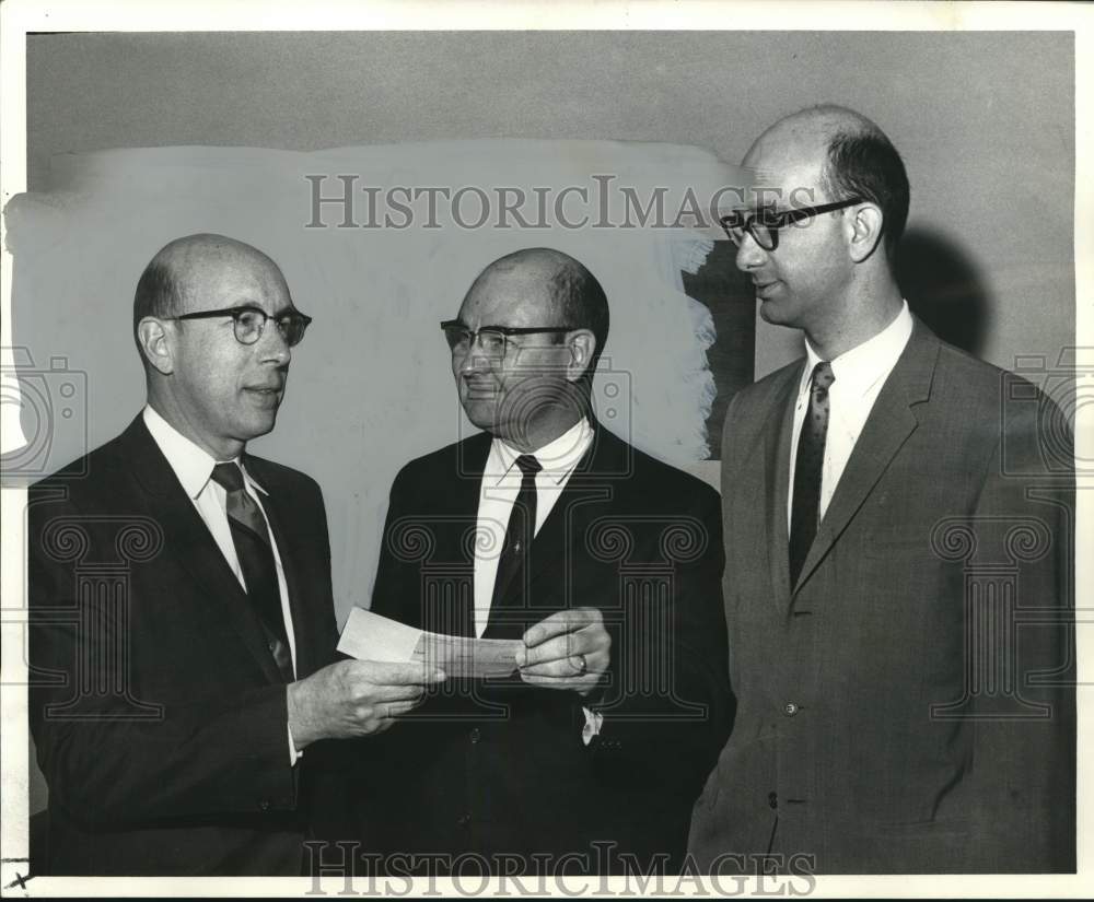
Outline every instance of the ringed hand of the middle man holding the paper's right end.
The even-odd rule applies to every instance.
[[[587,695],[612,661],[612,636],[596,608],[573,608],[540,620],[516,653],[521,679]]]

